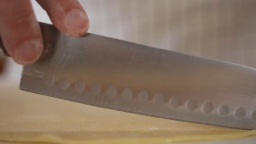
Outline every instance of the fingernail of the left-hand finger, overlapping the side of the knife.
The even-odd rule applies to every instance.
[[[31,64],[40,57],[43,44],[39,40],[30,40],[21,44],[14,51],[14,59],[19,64]]]

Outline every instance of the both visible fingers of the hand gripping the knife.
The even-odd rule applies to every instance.
[[[36,1],[66,35],[78,37],[88,31],[88,16],[77,0]],[[42,54],[42,33],[30,0],[0,0],[0,35],[16,63],[31,64]]]

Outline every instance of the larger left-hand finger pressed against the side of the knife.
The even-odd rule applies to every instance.
[[[33,63],[43,51],[42,34],[30,0],[0,1],[0,34],[17,63]]]

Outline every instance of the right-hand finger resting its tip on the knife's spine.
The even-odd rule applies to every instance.
[[[88,16],[77,0],[37,0],[37,2],[63,33],[80,36],[88,31]]]

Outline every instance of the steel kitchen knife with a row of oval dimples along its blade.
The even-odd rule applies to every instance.
[[[44,51],[36,63],[24,65],[21,90],[153,117],[256,129],[256,69],[96,34],[67,37],[46,23],[40,28]]]

